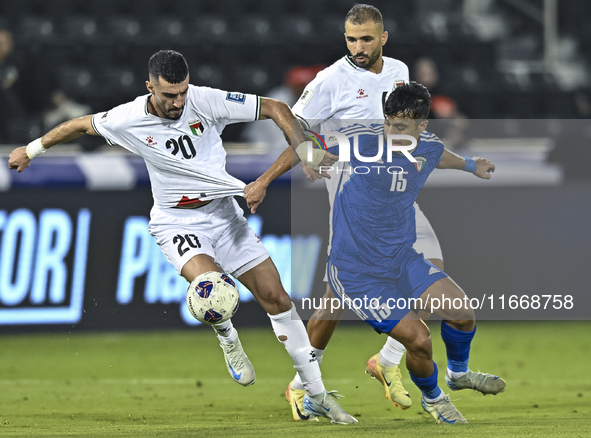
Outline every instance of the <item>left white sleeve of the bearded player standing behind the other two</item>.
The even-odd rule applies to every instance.
[[[292,112],[305,122],[308,129],[317,121],[329,119],[333,115],[331,102],[336,93],[334,86],[323,79],[317,76],[310,82],[292,108]]]

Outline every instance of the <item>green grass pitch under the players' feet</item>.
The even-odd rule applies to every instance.
[[[506,392],[452,393],[467,425],[436,425],[403,371],[414,404],[402,411],[364,374],[384,342],[368,326],[337,329],[322,370],[355,425],[291,418],[284,391],[293,368],[271,327],[240,330],[257,370],[243,388],[226,373],[207,327],[154,333],[0,336],[2,437],[591,436],[589,322],[482,322],[471,368],[501,375]],[[445,368],[439,326],[434,357]],[[445,383],[440,375],[440,384]]]

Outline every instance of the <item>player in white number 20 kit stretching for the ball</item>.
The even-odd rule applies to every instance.
[[[305,137],[299,124],[291,123],[295,117],[277,100],[190,85],[187,63],[178,52],[155,53],[148,68],[150,94],[61,124],[15,149],[9,168],[21,172],[50,147],[85,134],[100,135],[110,145],[141,156],[154,198],[149,230],[168,261],[189,283],[211,271],[238,278],[269,315],[275,335],[305,382],[307,412],[333,423],[357,422],[338,405],[336,395],[325,390],[304,324],[233,198],[244,194],[245,185],[225,169],[220,134],[227,124],[270,118],[291,144],[299,145]],[[333,161],[324,158],[328,165]],[[243,386],[253,384],[254,368],[232,322],[213,328],[231,377]]]

